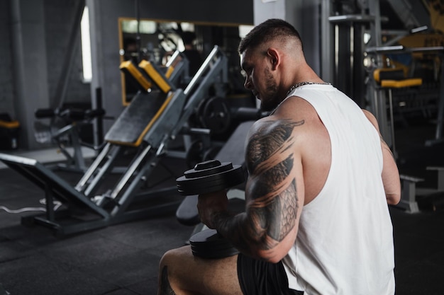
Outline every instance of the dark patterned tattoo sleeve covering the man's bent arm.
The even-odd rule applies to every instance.
[[[246,253],[252,247],[274,248],[295,225],[298,197],[296,179],[292,177],[293,131],[303,124],[304,121],[266,121],[248,141],[247,211],[234,219],[221,218],[218,226]]]

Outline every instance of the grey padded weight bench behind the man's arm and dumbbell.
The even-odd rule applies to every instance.
[[[223,162],[231,162],[233,165],[242,165],[245,163],[245,138],[247,137],[250,127],[255,121],[246,121],[240,123],[235,129],[231,137],[228,138],[218,154],[214,157],[215,160]],[[245,167],[244,167],[245,169]],[[246,169],[245,169],[246,173]],[[243,212],[245,210],[245,183],[228,190],[227,196],[229,199],[228,208],[233,212]],[[199,213],[197,212],[197,195],[190,195],[184,198],[176,211],[177,220],[187,226],[195,226],[194,233],[204,229],[204,224],[201,224]]]

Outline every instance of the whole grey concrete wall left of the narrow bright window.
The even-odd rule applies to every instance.
[[[20,122],[19,148],[43,147],[35,141],[34,112],[60,103],[57,85],[70,52],[67,45],[79,1],[0,1],[0,112]],[[73,60],[64,101],[89,103],[89,84],[80,76],[80,50]]]

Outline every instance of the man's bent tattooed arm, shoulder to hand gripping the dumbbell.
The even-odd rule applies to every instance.
[[[252,257],[278,262],[296,239],[304,185],[294,134],[303,124],[304,121],[265,119],[252,127],[246,149],[249,178],[245,213],[230,216],[224,209],[225,201],[220,201],[223,198],[199,197],[199,202],[218,202],[205,206],[205,210],[216,206],[206,217],[204,209],[199,209],[207,225]]]

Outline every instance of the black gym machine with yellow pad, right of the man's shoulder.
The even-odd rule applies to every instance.
[[[416,28],[410,33],[416,33],[426,28]],[[396,38],[395,38],[396,40]],[[439,91],[435,93],[437,96],[435,100],[438,102],[438,114],[436,119],[436,132],[435,139],[429,139],[426,141],[425,146],[432,146],[443,141],[443,114],[444,114],[444,62],[443,52],[444,47],[404,47],[402,45],[392,45],[393,41],[387,42],[384,46],[369,47],[367,48],[367,54],[370,57],[382,56],[387,54],[435,54],[440,57],[440,86]],[[389,144],[391,146],[394,157],[397,158],[396,145],[394,139],[394,96],[392,90],[398,90],[400,88],[408,89],[410,96],[414,96],[415,100],[423,100],[417,108],[423,109],[426,105],[428,97],[426,93],[420,93],[420,86],[423,84],[423,79],[406,76],[404,69],[380,67],[374,69],[373,75],[370,76],[368,84],[369,96],[373,94],[374,100],[373,106],[376,110],[376,115],[380,122],[381,132],[384,138],[390,139]],[[415,97],[416,96],[416,97]],[[388,98],[388,110],[389,118],[387,118],[387,98]],[[404,100],[408,100],[408,97],[404,97]],[[389,122],[389,125],[387,124]],[[385,136],[384,136],[385,134]],[[436,170],[438,173],[438,187],[437,189],[418,189],[417,183],[421,183],[424,179],[417,178],[412,175],[400,175],[401,178],[401,201],[397,207],[405,209],[408,213],[418,213],[418,202],[416,197],[419,195],[430,196],[439,194],[443,191],[443,168],[440,167],[428,167],[427,170]]]

